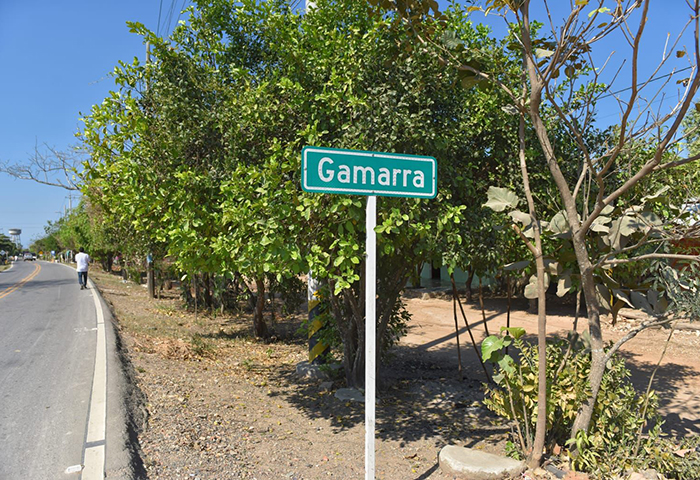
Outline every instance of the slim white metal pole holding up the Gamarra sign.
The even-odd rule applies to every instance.
[[[367,259],[365,264],[365,480],[374,480],[374,420],[376,398],[377,197],[367,197]]]

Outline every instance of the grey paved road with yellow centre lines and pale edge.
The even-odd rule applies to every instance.
[[[16,262],[0,273],[0,479],[103,478],[105,330],[97,292],[81,291],[74,270]]]

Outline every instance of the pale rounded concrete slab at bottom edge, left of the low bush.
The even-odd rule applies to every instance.
[[[440,450],[438,459],[445,473],[460,479],[500,480],[514,478],[525,470],[525,462],[456,445]]]

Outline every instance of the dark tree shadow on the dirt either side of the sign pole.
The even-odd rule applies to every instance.
[[[483,372],[465,370],[460,380],[457,367],[446,364],[450,346],[431,355],[420,348],[401,345],[382,366],[376,407],[376,435],[380,440],[404,442],[428,440],[436,446],[460,444],[468,447],[501,442],[509,428],[483,405]],[[274,378],[276,376],[276,378]],[[320,391],[319,382],[300,382],[294,372],[272,372],[272,380],[297,387],[283,395],[310,419],[330,421],[333,433],[361,426],[364,404],[335,397],[335,390]],[[344,382],[337,380],[334,387]]]

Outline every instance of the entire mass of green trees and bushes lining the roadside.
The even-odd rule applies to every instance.
[[[667,86],[639,71],[649,2],[610,3],[545,4],[535,18],[528,0],[442,12],[322,0],[305,15],[215,0],[194,2],[167,38],[131,24],[149,60],[120,62],[115,90],[85,112],[83,200],[35,249],[84,246],[107,271],[117,259],[124,278],[152,275],[154,295],[177,285],[195,316],[247,308],[263,340],[304,301],[311,271],[324,285],[323,338],[346,385],[361,387],[364,200],[303,192],[300,152],[433,156],[434,200],[378,203],[381,356],[405,331],[401,293],[423,265],[466,272],[467,292],[490,278],[539,312],[537,345],[512,329],[481,345],[495,364],[487,404],[514,422],[513,455],[536,467],[557,452],[602,477],[620,473],[616,462],[693,478],[697,445],[658,453],[668,445],[654,393],[632,389],[617,352],[646,328],[700,318],[698,227],[684,208],[700,199],[700,49],[697,36],[672,44],[661,67],[692,68],[677,102],[649,102]],[[687,8],[697,32],[700,7]],[[503,38],[475,23],[484,11],[510,22]],[[600,41],[616,35],[630,60],[604,75]],[[622,121],[609,126],[597,112],[612,95]],[[550,288],[580,304],[585,336],[547,338]],[[622,308],[647,317],[613,344],[602,317]]]

